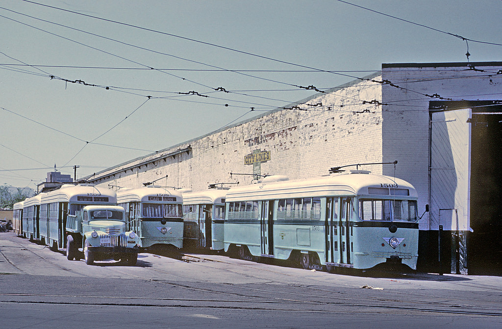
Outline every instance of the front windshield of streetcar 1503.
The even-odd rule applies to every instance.
[[[417,201],[361,199],[359,207],[361,220],[394,222],[416,222]]]

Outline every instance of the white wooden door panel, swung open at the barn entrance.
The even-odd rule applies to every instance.
[[[432,114],[431,230],[469,230],[471,109]]]

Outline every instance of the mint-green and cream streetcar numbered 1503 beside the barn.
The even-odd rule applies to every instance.
[[[305,269],[416,269],[417,198],[411,184],[368,171],[295,181],[269,176],[227,192],[224,249]]]

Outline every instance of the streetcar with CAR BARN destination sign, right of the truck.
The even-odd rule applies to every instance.
[[[128,227],[140,237],[141,248],[183,247],[183,197],[172,188],[121,188],[117,203],[126,209]]]

